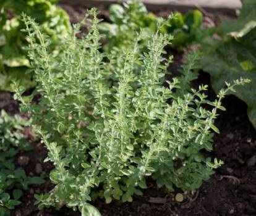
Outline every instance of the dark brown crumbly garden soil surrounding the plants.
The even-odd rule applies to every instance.
[[[72,22],[77,22],[75,17],[79,17],[85,11],[83,7],[74,8],[63,4],[61,6],[72,15]],[[101,11],[103,11],[101,16],[106,19],[108,17],[106,9],[103,8]],[[219,18],[218,16],[213,16],[213,18],[209,15],[205,25],[215,25]],[[180,63],[181,59],[181,54],[176,56],[177,62]],[[179,63],[174,64],[171,70],[177,70]],[[210,77],[202,72],[194,85],[198,83],[209,84]],[[208,93],[210,99],[215,98],[211,89]],[[184,202],[176,202],[173,195],[168,194],[163,188],[156,188],[154,182],[148,180],[148,189],[144,191],[144,195],[134,196],[133,202],[114,201],[111,204],[105,204],[104,201],[97,201],[93,205],[100,209],[103,216],[256,215],[256,131],[249,122],[246,113],[247,106],[244,102],[234,96],[227,96],[223,104],[227,111],[221,112],[216,121],[221,133],[215,135],[214,151],[206,154],[223,160],[224,165],[218,168],[215,175],[204,182],[198,191],[185,196]],[[0,110],[5,109],[15,114],[19,113],[18,107],[19,103],[12,99],[11,93],[0,92]],[[43,144],[33,141],[29,128],[26,128],[24,134],[34,149],[30,152],[20,151],[16,165],[24,168],[27,175],[45,177],[46,183],[33,186],[26,191],[22,197],[23,204],[18,206],[12,215],[80,215],[79,212],[73,212],[66,207],[61,210],[53,208],[38,210],[38,207],[33,204],[34,194],[47,193],[54,187],[48,179],[53,165],[43,162],[47,151]],[[178,192],[181,191],[177,190],[176,193]]]

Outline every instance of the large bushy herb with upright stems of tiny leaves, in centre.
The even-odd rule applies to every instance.
[[[137,31],[126,49],[100,52],[100,20],[96,10],[87,13],[88,35],[77,39],[80,25],[64,40],[59,56],[52,56],[49,39],[40,27],[25,17],[32,69],[38,87],[31,96],[16,82],[15,98],[22,111],[32,114],[35,130],[48,148],[47,160],[53,162],[50,194],[37,195],[43,206],[79,207],[82,215],[100,213],[88,202],[105,197],[132,201],[147,188],[147,177],[158,186],[173,191],[193,190],[207,180],[221,162],[205,158],[202,149],[212,150],[217,109],[224,110],[221,99],[227,91],[248,80],[234,81],[221,90],[215,102],[203,93],[207,86],[190,89],[196,78],[198,54],[189,56],[182,75],[167,81],[164,74],[171,62],[164,47],[172,37],[160,33],[169,20],[160,20],[156,33],[147,36],[147,49],[140,52]],[[39,41],[39,43],[36,43]],[[61,72],[61,77],[56,77]],[[32,104],[40,94],[38,104]],[[212,110],[203,104],[213,106]],[[94,212],[94,213],[93,213]]]

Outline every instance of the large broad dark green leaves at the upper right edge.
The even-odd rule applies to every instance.
[[[219,39],[203,39],[202,69],[210,73],[216,92],[225,81],[239,77],[252,80],[232,94],[246,102],[250,121],[256,127],[256,1],[244,0],[242,4],[237,20],[224,20],[213,31]]]

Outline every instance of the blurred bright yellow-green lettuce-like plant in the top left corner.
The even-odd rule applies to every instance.
[[[26,88],[35,85],[33,73],[25,73],[30,67],[27,52],[22,47],[27,44],[20,14],[30,15],[43,26],[52,41],[55,52],[56,46],[70,30],[69,17],[66,12],[52,0],[0,0],[0,89],[9,89],[11,80],[19,78]]]

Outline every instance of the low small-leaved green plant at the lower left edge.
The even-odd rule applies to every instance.
[[[22,135],[28,121],[19,115],[11,117],[4,110],[0,116],[0,215],[10,215],[10,210],[21,204],[19,201],[28,185],[40,184],[39,177],[27,177],[22,168],[15,168],[14,159],[18,148],[30,149]]]

